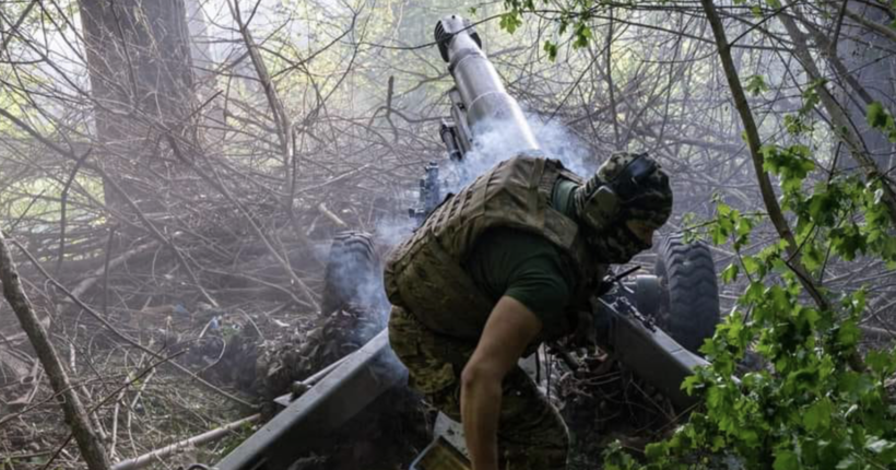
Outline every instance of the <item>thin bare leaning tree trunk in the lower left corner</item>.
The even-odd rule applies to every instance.
[[[81,403],[81,398],[74,392],[69,376],[66,374],[66,369],[62,368],[62,362],[56,354],[52,343],[50,343],[47,331],[44,330],[44,326],[37,319],[37,315],[22,289],[15,262],[12,260],[12,255],[2,232],[0,232],[0,280],[3,283],[3,295],[13,312],[15,312],[22,329],[28,336],[28,340],[31,340],[44,371],[47,372],[52,390],[62,397],[59,406],[62,407],[66,423],[72,430],[72,435],[74,435],[87,468],[90,470],[110,469],[111,462],[106,456],[106,448],[97,437],[93,426],[91,426],[87,412]]]

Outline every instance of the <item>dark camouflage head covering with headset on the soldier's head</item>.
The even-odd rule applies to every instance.
[[[627,221],[659,228],[672,213],[669,176],[647,154],[611,155],[576,189],[574,200],[588,243],[604,263],[628,262],[651,247],[628,228]]]

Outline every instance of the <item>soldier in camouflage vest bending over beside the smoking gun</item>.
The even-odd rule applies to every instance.
[[[410,386],[463,423],[473,470],[566,468],[566,425],[517,365],[576,332],[606,265],[651,247],[669,178],[612,155],[588,181],[517,156],[449,196],[386,266],[389,339]]]

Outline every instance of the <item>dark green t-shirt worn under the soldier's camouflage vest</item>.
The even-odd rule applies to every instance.
[[[561,179],[551,205],[571,214],[576,184]],[[576,291],[576,271],[561,249],[546,238],[509,227],[480,235],[464,265],[482,292],[497,302],[504,295],[519,301],[542,321],[543,328],[559,325],[559,316]],[[554,321],[552,321],[554,320]]]

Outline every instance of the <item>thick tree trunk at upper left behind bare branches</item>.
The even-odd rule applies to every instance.
[[[162,158],[160,133],[194,130],[188,122],[193,77],[184,0],[79,0],[79,5],[103,163],[142,209],[156,209],[149,201],[158,187],[145,176],[164,179],[176,172]],[[114,191],[105,192],[107,203],[127,212]]]

